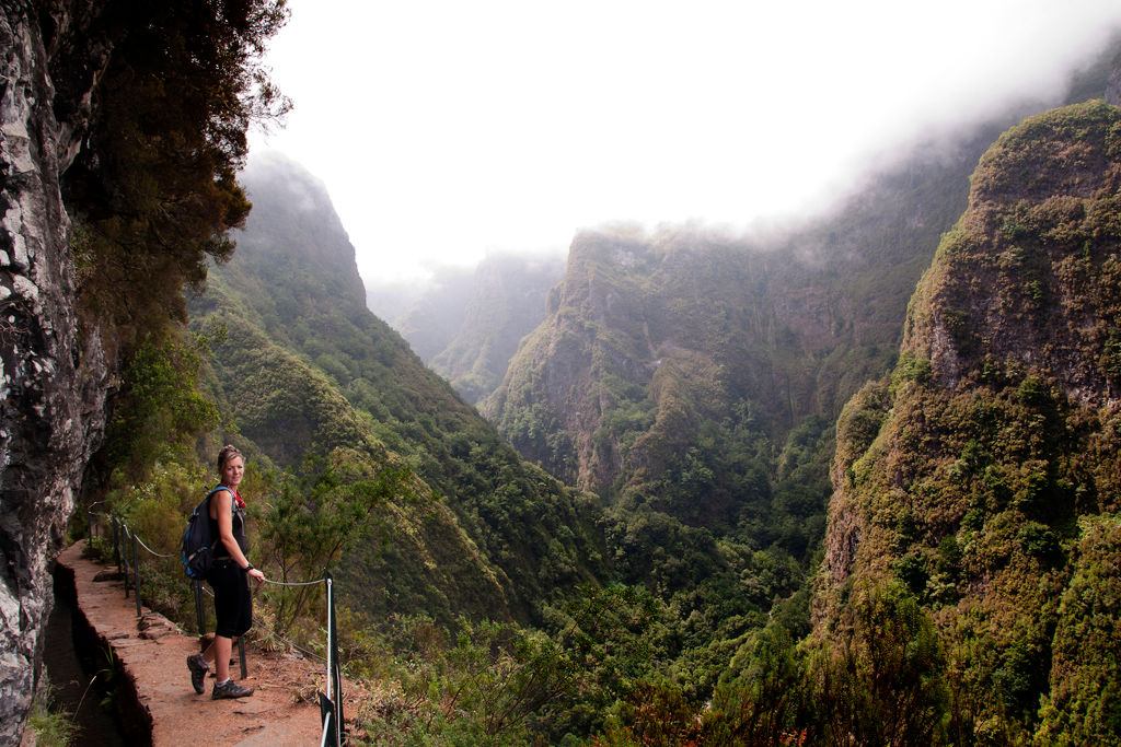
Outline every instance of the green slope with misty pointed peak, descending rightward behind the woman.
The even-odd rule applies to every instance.
[[[244,175],[252,217],[233,260],[193,301],[215,346],[219,401],[281,467],[346,454],[362,473],[408,466],[417,483],[380,535],[344,560],[368,614],[531,619],[602,570],[596,511],[525,464],[364,306],[354,250],[322,187],[291,162]],[[408,499],[405,499],[408,498]]]

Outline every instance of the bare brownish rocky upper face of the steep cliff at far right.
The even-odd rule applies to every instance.
[[[1119,186],[1114,106],[1047,112],[1001,137],[919,286],[904,349],[944,384],[994,358],[1046,372],[1081,401],[1115,396]]]

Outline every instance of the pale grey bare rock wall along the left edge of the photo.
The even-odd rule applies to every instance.
[[[100,335],[75,310],[58,177],[77,152],[105,55],[67,39],[76,6],[0,3],[0,743],[18,741],[39,674],[58,551],[104,428]],[[83,6],[84,7],[84,6]],[[46,32],[45,32],[46,29]],[[48,73],[66,57],[65,100]],[[56,115],[56,111],[59,114]]]

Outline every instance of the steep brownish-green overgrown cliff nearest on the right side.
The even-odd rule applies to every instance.
[[[837,427],[818,632],[849,639],[862,589],[901,588],[942,646],[926,689],[998,740],[1121,739],[1119,248],[1121,110],[1026,120]]]

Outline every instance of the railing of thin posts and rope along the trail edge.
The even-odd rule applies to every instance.
[[[124,523],[122,519],[102,511],[93,511],[93,506],[104,503],[99,501],[90,505],[86,510],[86,529],[89,531],[87,536],[93,540],[94,536],[100,536],[95,534],[94,530],[101,530],[102,527],[94,519],[108,519],[113,529],[113,562],[117,564],[117,572],[121,576],[124,581],[124,598],[129,597],[129,589],[131,587],[135,591],[136,604],[137,604],[137,617],[142,617],[143,611],[141,609],[140,603],[140,548],[143,548],[149,554],[155,558],[170,559],[177,558],[178,553],[170,552],[157,552],[152,550],[148,544],[140,539],[140,536],[132,530],[128,524]],[[131,559],[129,558],[129,541],[131,541]],[[130,568],[131,566],[131,568]],[[130,579],[131,573],[131,579]],[[323,578],[313,579],[309,581],[274,581],[271,579],[265,579],[266,583],[279,587],[307,587],[315,586],[317,583],[323,583],[326,586],[327,596],[327,641],[326,641],[326,657],[307,651],[291,641],[288,641],[276,631],[270,628],[268,625],[261,622],[259,617],[253,616],[253,625],[265,628],[275,638],[284,642],[291,648],[300,652],[305,656],[311,656],[319,662],[326,664],[326,683],[327,692],[326,694],[319,693],[319,712],[323,720],[323,738],[321,745],[333,747],[341,747],[344,741],[344,721],[343,721],[343,697],[342,697],[342,665],[339,662],[339,634],[335,624],[335,598],[334,598],[334,579],[331,573],[324,569]],[[200,580],[194,579],[192,581],[194,598],[195,598],[195,613],[198,622],[198,632],[202,633],[205,629],[205,601],[203,600],[203,594],[209,594],[211,597],[214,594],[210,589],[203,588]],[[245,644],[242,636],[238,636],[238,651],[241,657],[241,676],[244,679],[247,676],[247,665],[245,665]]]

